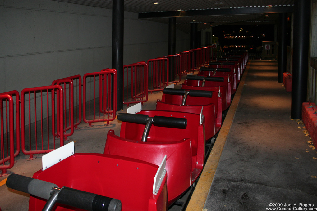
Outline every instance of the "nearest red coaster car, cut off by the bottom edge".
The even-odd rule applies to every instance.
[[[87,169],[89,169],[89,174],[87,174]],[[160,185],[157,185],[157,182],[153,185],[158,169],[158,165],[133,158],[98,153],[75,153],[44,171],[37,171],[33,178],[50,184],[54,183],[57,187],[63,187],[61,190],[66,187],[66,190],[71,189],[69,195],[60,192],[56,196],[57,203],[54,211],[120,210],[116,205],[110,207],[111,202],[110,204],[102,202],[101,199],[104,196],[120,200],[122,211],[165,211],[168,209],[167,174],[166,171],[164,175],[161,174]],[[43,184],[43,181],[40,184]],[[54,187],[54,184],[51,187]],[[24,182],[23,185],[25,186]],[[43,193],[45,190],[43,187],[47,185],[41,185],[38,191],[34,189],[33,182],[30,182],[30,185],[24,188],[31,194],[29,211],[41,211],[44,205],[47,206],[48,197],[45,197],[45,193]],[[155,193],[153,186],[155,186]],[[18,190],[23,191],[23,189]],[[83,191],[99,196],[92,198],[88,195],[87,197],[87,195],[81,195]],[[100,202],[102,203],[100,204]],[[84,205],[80,203],[84,203]],[[109,206],[109,209],[105,208],[106,205]]]

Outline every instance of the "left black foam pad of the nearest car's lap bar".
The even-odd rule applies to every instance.
[[[25,177],[18,174],[11,174],[7,179],[7,187],[15,190],[29,193],[43,199],[49,199],[50,191],[53,187],[58,187],[54,183],[49,183],[31,177]]]

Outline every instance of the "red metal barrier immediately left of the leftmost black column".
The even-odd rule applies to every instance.
[[[104,69],[86,73],[83,78],[83,121],[92,126],[93,122],[116,118],[117,71]]]

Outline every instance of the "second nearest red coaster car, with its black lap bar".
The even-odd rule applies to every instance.
[[[156,110],[119,113],[118,120],[122,121],[120,137],[109,130],[104,153],[156,165],[166,155],[167,195],[171,205],[203,169],[204,121],[197,114]]]

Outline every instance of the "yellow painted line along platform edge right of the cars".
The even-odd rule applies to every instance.
[[[207,195],[209,193],[210,185],[214,178],[220,156],[223,150],[223,146],[227,140],[228,133],[230,131],[231,123],[236,113],[236,109],[238,107],[241,93],[243,90],[243,85],[245,78],[248,74],[249,66],[251,61],[248,62],[247,67],[245,68],[242,79],[239,83],[238,89],[236,90],[236,94],[234,99],[231,102],[230,108],[226,115],[225,120],[223,121],[223,125],[219,131],[217,140],[212,147],[209,158],[205,164],[205,167],[200,175],[196,188],[191,196],[191,200],[188,203],[186,211],[200,211],[204,208],[204,204],[207,199]]]

